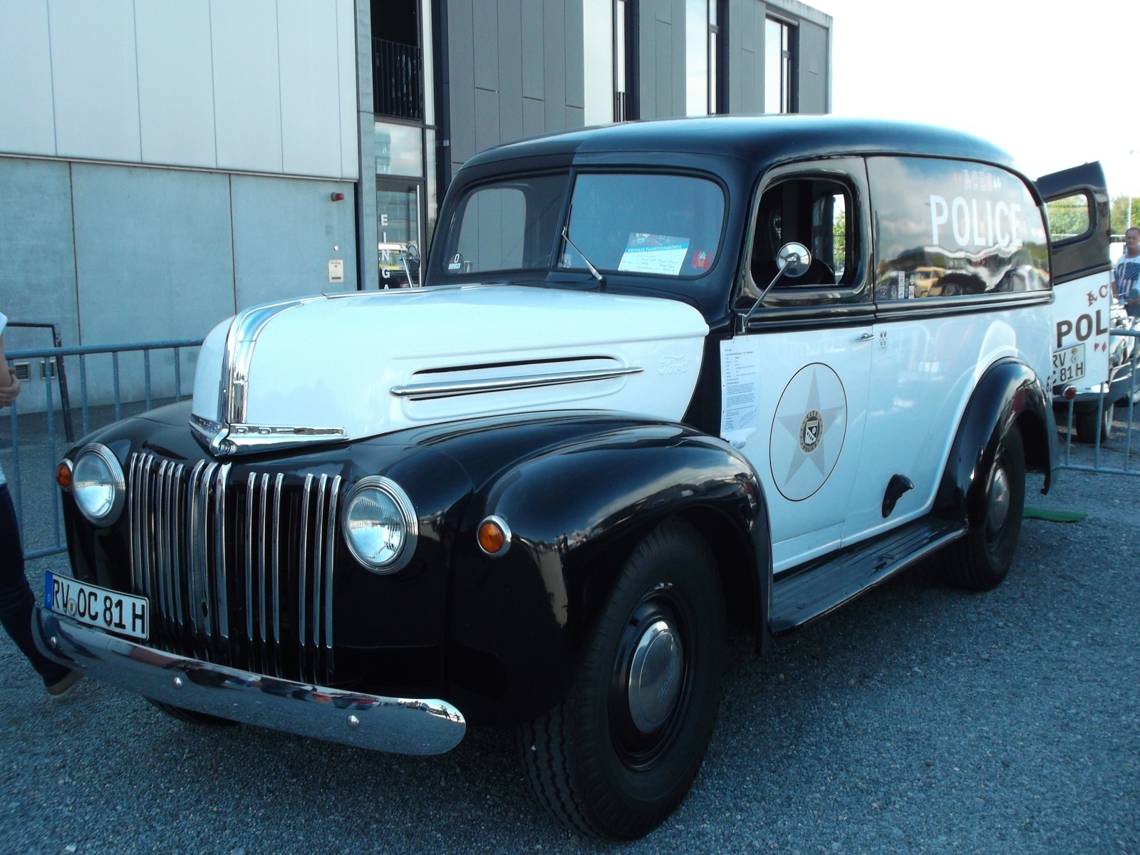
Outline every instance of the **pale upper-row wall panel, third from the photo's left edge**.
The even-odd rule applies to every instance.
[[[144,163],[215,166],[210,2],[136,0]]]

